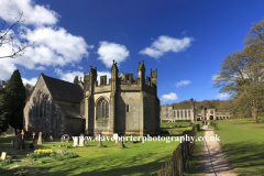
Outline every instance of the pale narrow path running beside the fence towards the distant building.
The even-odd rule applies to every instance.
[[[204,153],[204,174],[206,176],[237,176],[229,166],[220,144],[217,141],[208,141],[210,136],[216,136],[213,130],[208,129],[208,125],[202,128],[206,130],[205,136],[207,141],[202,146]],[[221,140],[221,138],[220,138]]]

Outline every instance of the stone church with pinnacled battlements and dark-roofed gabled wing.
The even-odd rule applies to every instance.
[[[145,77],[144,61],[138,77],[120,73],[112,64],[111,78],[97,81],[97,67],[90,67],[79,85],[41,74],[24,108],[24,129],[55,138],[62,134],[156,135],[160,133],[157,70]]]

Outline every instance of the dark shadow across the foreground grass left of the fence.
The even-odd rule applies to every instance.
[[[146,157],[151,156],[146,155]],[[28,175],[30,176],[58,176],[58,175],[74,175],[74,176],[82,176],[82,175],[90,175],[90,176],[122,176],[122,175],[155,175],[156,176],[156,172],[157,168],[162,168],[162,165],[164,165],[164,160],[167,160],[167,157],[162,157],[157,161],[154,162],[150,162],[147,164],[142,164],[142,165],[133,165],[134,163],[139,162],[139,157],[141,156],[135,156],[133,157],[130,163],[124,163],[123,165],[117,165],[117,166],[110,166],[105,157],[98,157],[95,158],[92,161],[76,161],[76,160],[68,160],[68,164],[65,166],[62,165],[57,165],[56,163],[54,163],[53,167],[50,167],[50,165],[47,164],[42,164],[42,165],[34,165],[33,167],[23,167],[23,169],[28,169]],[[122,156],[116,158],[116,160],[122,160]],[[105,167],[100,167],[97,169],[92,169],[92,170],[80,170],[79,168],[88,168],[89,166],[94,166],[95,165],[101,165],[103,164]],[[128,166],[128,165],[133,165],[133,166]],[[72,166],[70,166],[72,165]],[[56,168],[59,167],[59,170],[52,170],[52,168]],[[21,167],[22,168],[22,167]],[[2,174],[4,176],[11,176],[13,175],[13,173],[21,170],[21,168],[16,168],[16,169],[12,169],[12,170],[1,170]],[[75,173],[75,168],[78,169],[78,173]],[[153,173],[153,174],[150,174]]]

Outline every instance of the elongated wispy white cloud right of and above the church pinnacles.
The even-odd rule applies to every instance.
[[[154,41],[150,47],[140,51],[140,54],[148,55],[150,57],[158,58],[166,52],[183,52],[190,46],[193,37],[184,37],[182,40],[161,35],[158,40]]]

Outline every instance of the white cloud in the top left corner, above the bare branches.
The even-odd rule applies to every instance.
[[[24,24],[55,24],[58,14],[48,7],[35,4],[32,0],[1,0],[0,18],[13,23],[23,12]]]

